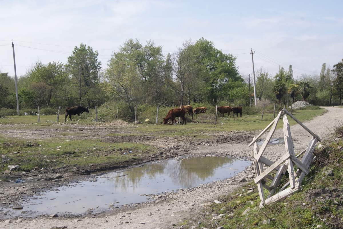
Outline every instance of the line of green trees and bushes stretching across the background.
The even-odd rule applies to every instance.
[[[153,41],[128,39],[101,68],[98,52],[81,43],[66,64],[36,61],[18,79],[21,109],[114,102],[131,113],[135,105],[180,106],[251,104],[253,89],[236,66],[236,57],[225,54],[204,38],[185,40],[176,52],[164,54]],[[314,105],[340,104],[343,96],[343,60],[332,69],[322,65],[320,75],[293,78],[292,65],[275,76],[257,70],[259,100],[305,100]],[[251,91],[250,91],[251,90]],[[0,109],[16,109],[14,79],[0,73]]]

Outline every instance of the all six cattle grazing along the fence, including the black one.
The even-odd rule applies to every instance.
[[[181,108],[174,108],[168,111],[168,114],[165,118],[163,118],[163,124],[167,124],[168,120],[171,120],[171,124],[173,125],[174,122],[176,124],[176,117],[181,117],[182,118],[182,125],[186,125],[186,118],[185,118],[185,114],[188,113],[188,115],[192,116],[193,119],[193,115],[194,114],[200,114],[200,113],[205,113],[207,111],[207,107],[205,106],[200,106],[197,107],[196,109],[193,109],[193,107],[191,105],[185,105],[185,106],[181,106]],[[238,113],[240,114],[240,117],[242,117],[242,107],[238,106],[238,107],[230,107],[230,106],[220,106],[217,107],[217,111],[219,111],[219,113],[222,114],[222,117],[224,117],[225,113],[227,114],[227,117],[231,117],[231,111],[234,114],[237,114],[238,117]],[[87,112],[89,113],[88,107],[83,107],[83,106],[74,106],[74,107],[69,107],[66,109],[66,117],[64,118],[64,122],[66,122],[67,117],[69,116],[70,120],[71,120],[71,116],[72,115],[79,115],[82,114],[83,112]]]

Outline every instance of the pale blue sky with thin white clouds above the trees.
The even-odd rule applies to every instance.
[[[66,63],[81,43],[105,69],[130,38],[167,55],[203,37],[244,77],[289,65],[295,78],[315,76],[343,59],[342,0],[0,0],[0,9],[0,72],[13,77],[12,41],[17,77],[37,61]]]

